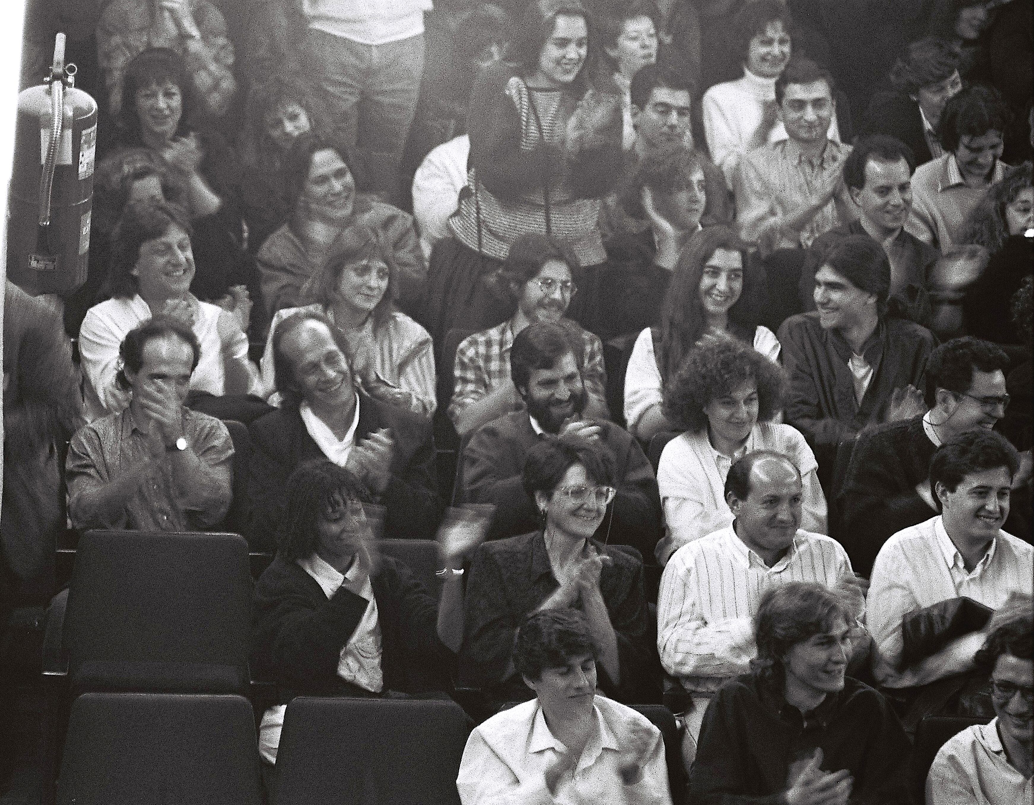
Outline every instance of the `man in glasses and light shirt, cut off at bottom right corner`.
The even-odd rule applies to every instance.
[[[995,717],[941,747],[926,777],[926,805],[1015,805],[1031,801],[1034,777],[1034,622],[1032,601],[1006,602],[976,653],[991,675]]]

